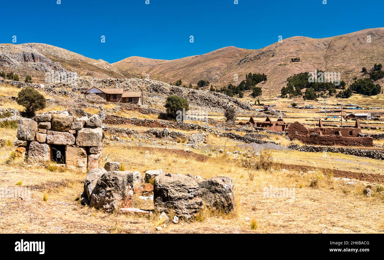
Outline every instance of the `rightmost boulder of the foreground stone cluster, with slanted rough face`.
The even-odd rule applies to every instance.
[[[199,182],[199,197],[205,205],[223,210],[225,213],[236,211],[233,183],[230,177],[212,177]]]

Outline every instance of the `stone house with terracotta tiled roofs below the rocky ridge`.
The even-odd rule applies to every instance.
[[[126,91],[123,88],[92,87],[85,91],[84,94],[86,98],[94,101],[143,104],[141,91]]]

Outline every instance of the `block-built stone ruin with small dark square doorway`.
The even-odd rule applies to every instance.
[[[86,172],[97,168],[103,150],[101,119],[76,118],[68,113],[37,114],[20,119],[15,142],[16,156],[28,163],[52,162]]]

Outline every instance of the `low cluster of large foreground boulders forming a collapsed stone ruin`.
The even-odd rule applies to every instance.
[[[191,219],[204,206],[226,214],[236,211],[233,182],[229,177],[204,180],[190,174],[170,174],[163,170],[149,170],[143,178],[140,172],[116,171],[118,163],[107,162],[103,167],[88,172],[81,194],[81,203],[107,212],[118,210],[124,214],[153,214],[152,210],[132,208],[135,193],[152,192],[154,209],[176,218]],[[151,184],[153,183],[153,185]],[[176,222],[175,222],[176,223]]]

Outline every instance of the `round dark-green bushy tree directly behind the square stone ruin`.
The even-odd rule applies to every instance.
[[[24,114],[31,118],[39,109],[45,108],[46,100],[39,91],[34,88],[23,88],[17,95],[17,104],[25,107]]]

